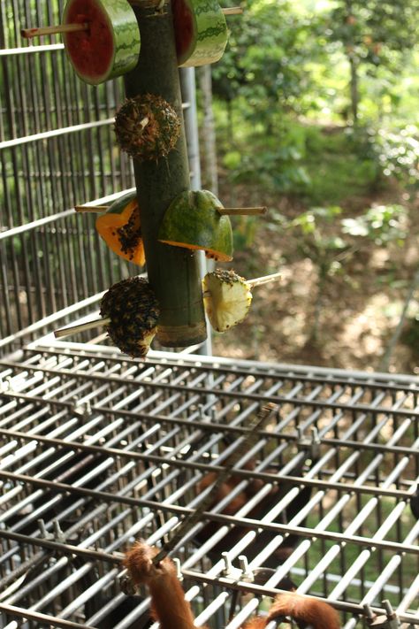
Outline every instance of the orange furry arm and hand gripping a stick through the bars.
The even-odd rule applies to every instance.
[[[126,570],[135,585],[145,584],[149,587],[151,614],[158,620],[161,629],[196,629],[194,614],[185,600],[175,565],[166,557],[155,566],[152,559],[157,552],[157,548],[137,541],[126,553]]]

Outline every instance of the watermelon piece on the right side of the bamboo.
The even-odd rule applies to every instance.
[[[218,0],[171,0],[178,65],[214,64],[228,40]]]

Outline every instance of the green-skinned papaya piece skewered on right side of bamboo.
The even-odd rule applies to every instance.
[[[203,249],[214,260],[232,260],[232,224],[218,209],[223,205],[209,190],[182,192],[165,211],[158,240],[174,247]]]

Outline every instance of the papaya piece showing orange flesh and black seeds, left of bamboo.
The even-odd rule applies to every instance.
[[[135,191],[119,196],[107,211],[96,219],[96,230],[118,256],[144,265],[140,208]]]

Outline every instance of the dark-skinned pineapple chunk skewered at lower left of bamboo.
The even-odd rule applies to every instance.
[[[105,329],[121,351],[131,357],[146,356],[160,314],[147,280],[134,277],[111,286],[103,295],[100,313],[110,319]]]

